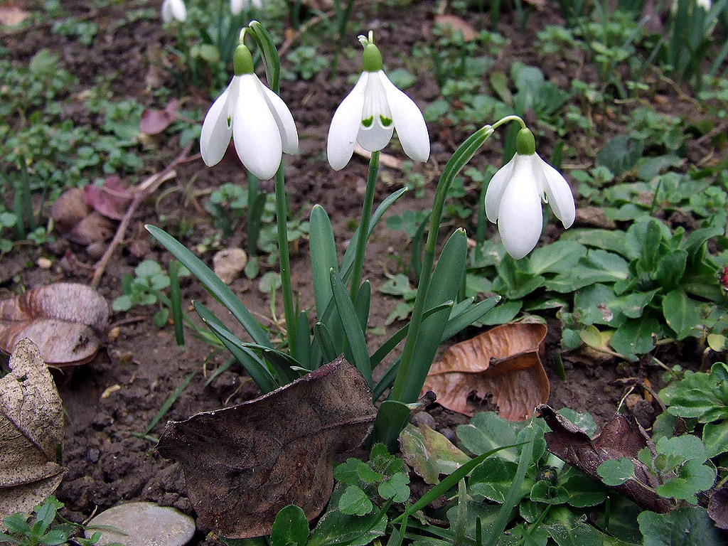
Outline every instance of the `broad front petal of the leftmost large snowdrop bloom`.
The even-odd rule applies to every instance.
[[[233,141],[240,161],[261,180],[273,178],[280,166],[280,131],[258,87],[258,76],[240,77],[240,97],[232,120]]]

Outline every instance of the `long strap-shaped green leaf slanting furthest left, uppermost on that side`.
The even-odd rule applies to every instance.
[[[235,296],[233,291],[220,280],[220,278],[213,273],[213,270],[207,267],[202,260],[197,258],[187,248],[170,234],[165,232],[163,229],[159,229],[157,226],[151,226],[147,224],[146,230],[151,233],[152,237],[159,241],[159,243],[165,247],[175,258],[177,258],[183,266],[190,270],[190,272],[197,277],[197,280],[202,283],[205,290],[210,292],[213,297],[218,300],[237,321],[245,328],[259,345],[272,348],[268,334],[264,331],[258,321],[250,314],[248,308],[242,304],[242,302]]]

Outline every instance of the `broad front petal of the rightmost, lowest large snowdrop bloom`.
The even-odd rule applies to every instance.
[[[498,210],[498,231],[508,253],[523,258],[541,237],[543,213],[531,162],[517,161]]]

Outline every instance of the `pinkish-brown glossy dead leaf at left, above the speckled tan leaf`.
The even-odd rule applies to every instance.
[[[0,301],[0,351],[9,354],[28,338],[48,365],[79,365],[96,355],[107,325],[108,303],[93,288],[75,282],[33,288]]]

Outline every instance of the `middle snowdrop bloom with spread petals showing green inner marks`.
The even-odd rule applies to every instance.
[[[384,74],[372,32],[368,39],[359,36],[359,40],[364,46],[364,71],[333,114],[328,131],[328,162],[334,170],[341,170],[352,158],[355,143],[365,150],[379,151],[387,146],[395,129],[405,154],[416,161],[427,161],[430,135],[422,112]]]

